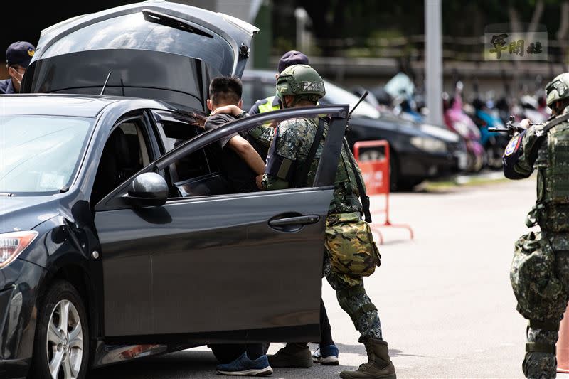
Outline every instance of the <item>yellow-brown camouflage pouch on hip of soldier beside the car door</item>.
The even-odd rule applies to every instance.
[[[334,213],[326,218],[324,242],[334,272],[351,277],[368,277],[381,265],[371,228],[360,214]]]

